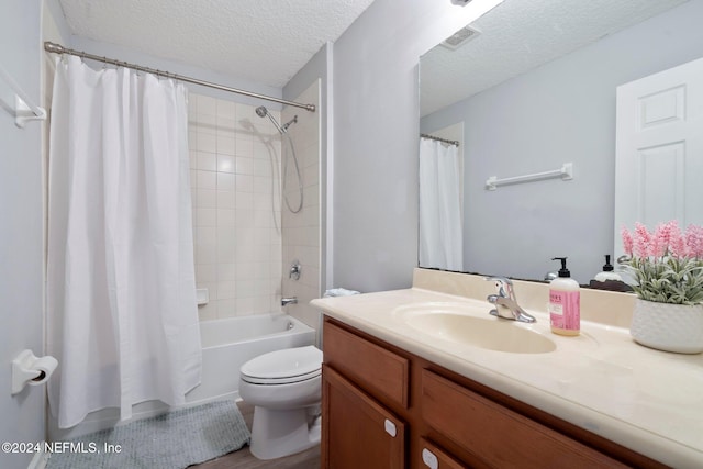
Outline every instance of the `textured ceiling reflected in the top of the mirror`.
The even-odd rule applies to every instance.
[[[456,51],[421,59],[421,115],[466,99],[687,0],[505,0]]]

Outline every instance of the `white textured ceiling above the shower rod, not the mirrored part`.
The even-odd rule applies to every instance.
[[[75,35],[281,88],[324,43],[337,40],[372,0],[59,3]]]

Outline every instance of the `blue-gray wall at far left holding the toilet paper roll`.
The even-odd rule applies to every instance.
[[[38,105],[41,0],[3,0],[0,65]],[[0,79],[0,98],[13,94]],[[10,362],[23,349],[42,355],[42,123],[18,129],[0,108],[0,440],[44,439],[44,388],[11,397]],[[0,453],[3,469],[26,468],[32,454]]]

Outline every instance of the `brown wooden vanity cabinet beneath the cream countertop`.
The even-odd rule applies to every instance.
[[[325,316],[322,467],[665,466]]]

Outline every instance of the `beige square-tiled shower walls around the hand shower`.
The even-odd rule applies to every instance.
[[[320,108],[320,81],[295,101]],[[201,321],[281,310],[281,297],[297,297],[286,310],[316,327],[319,312],[308,303],[321,294],[320,112],[288,107],[269,109],[292,123],[292,138],[303,183],[303,208],[291,213],[281,199],[281,147],[286,139],[256,107],[202,94],[189,96],[189,146],[193,201],[196,283],[210,301],[199,306]],[[292,158],[287,188],[291,206],[299,200]],[[281,210],[282,208],[282,210]],[[289,279],[293,259],[300,280]]]

